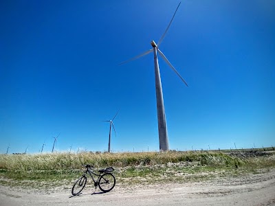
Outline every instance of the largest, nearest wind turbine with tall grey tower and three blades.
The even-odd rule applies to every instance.
[[[180,5],[181,2],[179,2]],[[179,8],[179,5],[177,6],[177,9]],[[175,73],[177,74],[177,76],[179,76],[179,78],[184,82],[184,84],[186,84],[186,86],[188,87],[186,81],[184,80],[184,78],[182,78],[179,73],[177,72],[177,70],[173,67],[173,65],[170,64],[170,62],[168,61],[168,59],[166,58],[166,56],[164,56],[164,54],[159,50],[159,45],[162,43],[164,36],[166,35],[174,17],[175,14],[177,12],[177,9],[175,10],[175,13],[170,21],[170,23],[168,24],[168,27],[166,28],[164,34],[162,34],[162,37],[159,39],[159,42],[156,44],[155,41],[151,41],[151,46],[153,47],[152,49],[138,55],[135,56],[134,58],[131,58],[129,60],[126,60],[125,62],[120,63],[120,65],[126,63],[126,62],[130,62],[132,60],[135,60],[137,58],[140,58],[146,54],[149,54],[151,52],[153,52],[154,54],[154,65],[155,65],[155,92],[156,92],[156,97],[157,97],[157,122],[158,122],[158,130],[159,130],[159,150],[160,151],[166,151],[169,150],[169,144],[168,144],[168,134],[167,134],[167,128],[166,128],[166,117],[165,117],[165,111],[164,111],[164,100],[163,100],[163,94],[162,94],[162,82],[160,79],[160,74],[159,74],[159,62],[157,60],[157,52],[159,52],[160,56],[164,59],[164,61],[169,65],[169,67],[171,67],[171,69],[173,69],[173,71],[175,71]]]

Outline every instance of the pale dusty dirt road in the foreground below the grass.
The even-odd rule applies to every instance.
[[[70,190],[36,192],[0,185],[0,206],[19,205],[275,205],[275,170],[263,174],[225,177],[200,183],[139,185],[96,194],[85,188],[72,197]]]

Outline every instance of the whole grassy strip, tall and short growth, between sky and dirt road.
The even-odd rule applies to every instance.
[[[0,183],[26,187],[71,187],[89,163],[96,169],[113,166],[120,185],[201,181],[275,168],[272,148],[258,150],[0,155]]]

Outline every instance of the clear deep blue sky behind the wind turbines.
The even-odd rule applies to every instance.
[[[1,1],[0,152],[158,150],[151,49],[179,1]],[[274,1],[182,1],[159,49],[170,149],[275,146]]]

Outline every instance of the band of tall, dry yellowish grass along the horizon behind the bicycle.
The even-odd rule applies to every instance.
[[[83,164],[95,168],[156,165],[199,161],[201,165],[241,164],[241,159],[221,152],[142,152],[142,153],[54,153],[43,155],[0,155],[0,169],[10,171],[75,170]]]

